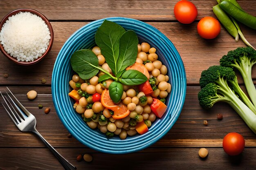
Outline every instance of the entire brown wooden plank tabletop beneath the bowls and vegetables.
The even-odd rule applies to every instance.
[[[239,115],[227,104],[218,103],[211,110],[203,110],[198,102],[199,78],[202,70],[218,65],[222,55],[239,46],[221,27],[220,35],[204,40],[197,33],[198,21],[213,16],[216,0],[191,0],[198,9],[192,24],[175,20],[173,7],[178,0],[0,0],[0,19],[19,8],[31,8],[43,13],[54,30],[52,50],[44,60],[31,66],[20,66],[0,53],[0,88],[9,86],[20,102],[35,115],[41,135],[70,161],[78,170],[165,170],[165,169],[255,169],[256,135]],[[248,13],[256,16],[256,0],[237,0]],[[179,119],[173,128],[149,148],[125,155],[110,155],[92,150],[68,138],[68,131],[58,118],[51,95],[54,62],[67,38],[91,21],[107,17],[127,17],[142,20],[155,26],[175,45],[184,62],[187,89],[186,99]],[[241,25],[247,40],[256,46],[256,31]],[[4,74],[9,77],[5,78]],[[256,68],[252,73],[256,80]],[[41,80],[46,79],[42,84]],[[243,81],[238,76],[241,86]],[[34,101],[26,94],[31,89],[38,92]],[[38,104],[51,108],[46,115]],[[222,120],[216,115],[223,114]],[[208,120],[208,126],[203,121]],[[229,132],[238,132],[245,138],[245,150],[236,157],[228,156],[222,149],[222,139]],[[198,150],[207,148],[209,155],[200,159]],[[79,154],[90,153],[93,161],[76,161]],[[0,105],[0,170],[62,170],[52,152],[34,134],[20,132]]]

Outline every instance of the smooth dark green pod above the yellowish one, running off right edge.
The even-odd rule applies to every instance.
[[[220,7],[239,22],[249,26],[252,29],[256,29],[256,17],[239,9],[227,0],[220,2]]]

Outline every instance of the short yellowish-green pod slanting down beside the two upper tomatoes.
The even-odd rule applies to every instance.
[[[217,4],[213,7],[213,13],[216,15],[218,20],[222,23],[222,25],[227,29],[227,31],[232,35],[236,42],[238,42],[239,35],[236,29],[235,24],[231,21],[229,16],[220,8],[220,5]]]

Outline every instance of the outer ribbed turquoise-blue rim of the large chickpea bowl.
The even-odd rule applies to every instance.
[[[181,78],[183,81],[182,81],[182,89],[181,91],[179,92],[180,94],[182,94],[182,97],[180,99],[180,103],[178,103],[178,108],[177,108],[177,111],[173,117],[173,119],[168,122],[170,124],[170,126],[167,127],[166,130],[164,130],[164,132],[161,132],[157,137],[154,138],[154,140],[150,140],[147,144],[145,144],[144,146],[140,146],[140,147],[137,147],[137,148],[130,148],[130,149],[124,149],[124,150],[108,150],[108,149],[105,149],[105,148],[102,148],[102,147],[99,147],[99,146],[95,146],[95,145],[92,145],[92,144],[88,144],[86,143],[80,136],[76,136],[74,135],[74,131],[72,130],[72,128],[70,128],[70,124],[69,122],[67,122],[64,117],[61,116],[61,109],[58,107],[57,103],[58,103],[58,100],[56,98],[56,89],[54,88],[55,87],[55,74],[58,72],[58,68],[56,68],[56,63],[57,63],[57,60],[58,58],[60,57],[61,55],[61,52],[63,52],[63,49],[65,46],[67,46],[68,42],[72,39],[73,36],[75,36],[77,33],[79,33],[79,31],[85,29],[85,28],[88,28],[88,27],[91,27],[91,26],[94,26],[94,24],[99,24],[99,23],[102,23],[104,20],[110,20],[110,21],[113,21],[113,22],[117,22],[117,21],[123,21],[123,22],[129,22],[129,23],[134,23],[134,24],[141,24],[141,25],[144,25],[146,26],[148,29],[150,29],[150,31],[154,31],[155,33],[157,33],[157,36],[162,39],[165,43],[168,43],[169,46],[171,46],[171,50],[175,53],[176,57],[178,57],[178,60],[176,62],[178,62],[179,66],[180,66],[180,69],[182,71],[182,76],[179,77]],[[142,150],[144,148],[147,148],[148,146],[154,144],[155,142],[159,141],[160,139],[162,139],[162,137],[164,137],[166,135],[166,133],[173,127],[173,125],[175,124],[175,122],[177,121],[178,117],[180,116],[180,113],[181,113],[181,110],[182,110],[182,107],[184,105],[184,100],[185,100],[185,96],[186,96],[186,73],[185,73],[185,68],[184,68],[184,64],[182,62],[182,59],[180,57],[180,54],[178,53],[177,49],[175,48],[175,46],[173,45],[173,43],[171,42],[171,40],[169,40],[163,33],[161,33],[158,29],[156,29],[155,27],[151,26],[150,24],[147,24],[145,22],[142,22],[142,21],[139,21],[139,20],[135,20],[135,19],[131,19],[131,18],[123,18],[123,17],[112,17],[112,18],[103,18],[103,19],[100,19],[100,20],[95,20],[93,22],[90,22],[88,24],[86,24],[85,26],[82,26],[80,29],[78,29],[77,31],[75,31],[71,36],[70,38],[67,39],[67,41],[64,43],[62,49],[60,50],[60,52],[58,53],[58,56],[56,58],[56,62],[54,64],[54,69],[53,69],[53,73],[52,73],[52,98],[53,98],[53,103],[54,103],[54,106],[55,106],[55,109],[56,109],[56,113],[59,117],[59,119],[61,120],[61,122],[63,123],[63,125],[65,126],[65,128],[78,140],[80,141],[82,144],[84,144],[85,146],[88,146],[89,148],[92,148],[94,150],[97,150],[97,151],[100,151],[100,152],[105,152],[105,153],[110,153],[110,154],[126,154],[126,153],[131,153],[131,152],[137,152],[139,150]],[[126,140],[123,140],[124,142]]]

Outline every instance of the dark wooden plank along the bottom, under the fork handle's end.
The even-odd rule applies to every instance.
[[[77,169],[97,170],[172,170],[172,169],[210,169],[226,170],[255,169],[254,158],[256,148],[245,148],[236,157],[228,156],[222,148],[207,148],[206,159],[198,156],[199,148],[147,148],[137,153],[125,155],[110,155],[84,148],[59,148],[61,155],[70,161]],[[79,154],[90,153],[93,161],[76,161]],[[0,148],[0,169],[2,170],[63,170],[61,164],[47,148]]]

